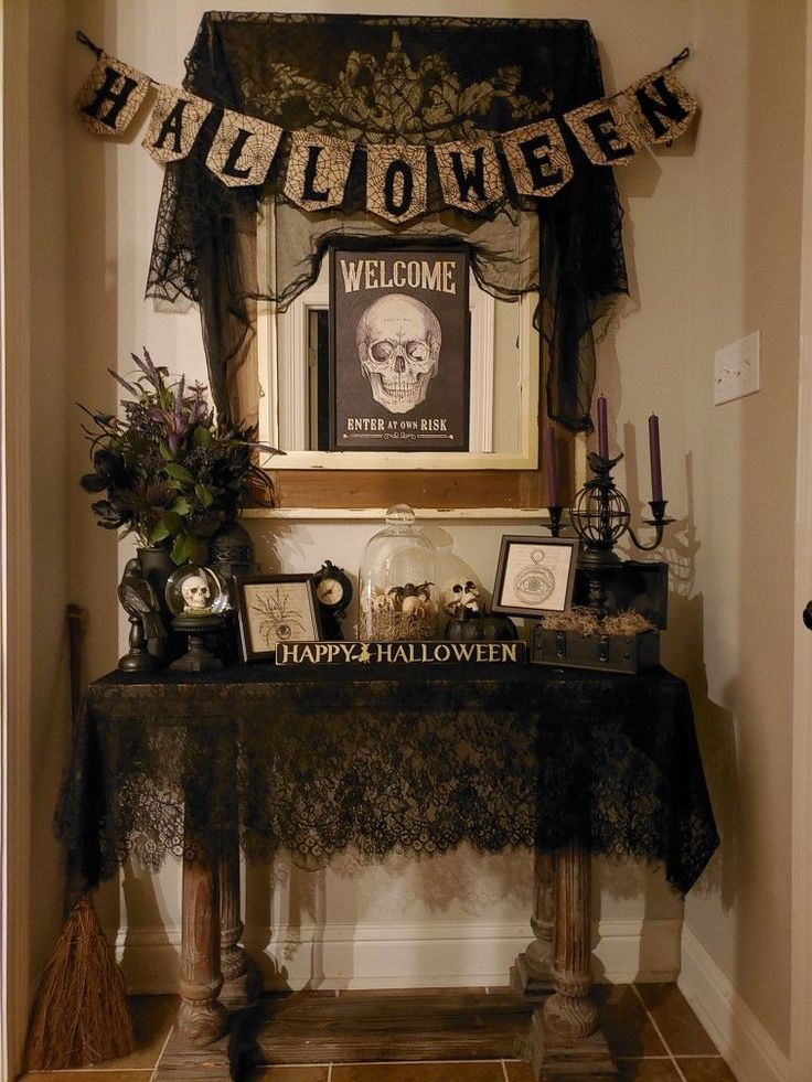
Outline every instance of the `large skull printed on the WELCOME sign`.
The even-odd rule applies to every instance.
[[[391,414],[419,406],[437,375],[441,342],[439,320],[417,298],[389,293],[370,304],[355,343],[375,401]]]

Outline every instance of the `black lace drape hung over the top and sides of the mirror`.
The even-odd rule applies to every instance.
[[[579,20],[389,18],[210,12],[186,58],[186,89],[217,106],[273,121],[287,131],[312,128],[363,142],[419,143],[500,132],[559,116],[603,93],[589,24]],[[389,95],[380,92],[383,76]],[[215,403],[228,410],[233,368],[250,323],[250,300],[288,302],[318,275],[325,247],[356,235],[364,211],[364,154],[354,158],[340,213],[308,215],[308,227],[280,192],[287,147],[280,146],[265,191],[228,189],[205,157],[220,122],[212,113],[192,153],[169,167],[158,214],[148,296],[199,301]],[[530,289],[539,297],[539,328],[549,353],[548,413],[589,429],[595,381],[592,325],[607,300],[627,290],[621,211],[611,169],[589,164],[565,130],[575,178],[548,200],[505,204],[481,218],[442,207],[429,171],[421,243],[450,227],[467,243],[483,288],[501,297]],[[259,201],[269,197],[288,231],[277,237],[276,279],[257,275],[247,238]],[[517,215],[537,216],[528,272]],[[281,226],[280,226],[281,228]],[[363,232],[363,231],[361,231]],[[535,231],[533,231],[535,232]],[[408,242],[409,226],[381,224],[382,237]],[[304,237],[298,247],[297,237]],[[301,240],[300,240],[301,245]]]

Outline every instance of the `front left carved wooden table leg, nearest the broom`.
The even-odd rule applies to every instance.
[[[189,819],[189,807],[186,807]],[[190,824],[186,823],[186,838]],[[211,1044],[225,1033],[228,1015],[217,999],[220,972],[220,868],[205,856],[183,860],[181,979],[178,1030],[190,1044]]]

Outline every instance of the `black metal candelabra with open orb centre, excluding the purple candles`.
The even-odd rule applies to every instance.
[[[600,614],[606,607],[606,589],[600,572],[622,563],[615,551],[616,543],[628,534],[637,548],[651,553],[661,544],[665,527],[674,521],[665,517],[667,500],[650,500],[652,517],[644,518],[643,523],[654,527],[654,537],[649,544],[640,540],[631,526],[629,501],[616,486],[611,475],[613,467],[622,458],[622,452],[615,459],[590,452],[587,462],[594,476],[575,494],[569,508],[569,521],[581,540],[578,567],[586,572],[589,580],[588,607]],[[549,510],[553,521],[553,508]],[[559,522],[560,511],[558,522],[554,522],[554,536],[560,531]]]

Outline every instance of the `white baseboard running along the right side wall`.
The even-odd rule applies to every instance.
[[[687,928],[677,986],[739,1082],[789,1082],[789,1057]]]

